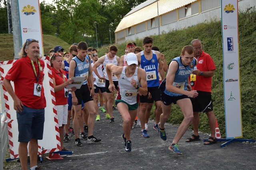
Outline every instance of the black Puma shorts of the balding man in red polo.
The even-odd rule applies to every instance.
[[[190,98],[193,106],[193,111],[208,112],[213,110],[212,105],[212,93],[197,91],[198,96],[196,98]]]

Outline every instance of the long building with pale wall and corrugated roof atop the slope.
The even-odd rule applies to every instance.
[[[115,31],[115,42],[134,41],[136,38],[158,35],[159,32],[220,20],[220,6],[221,0],[147,0],[120,21]],[[253,6],[256,6],[256,0],[238,0],[239,11]]]

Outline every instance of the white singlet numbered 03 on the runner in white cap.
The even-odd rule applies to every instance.
[[[125,75],[125,69],[126,66],[123,67],[122,74],[118,80],[118,91],[116,94],[116,100],[122,100],[126,102],[127,104],[136,104],[138,102],[137,94],[138,90],[131,85],[132,78],[136,80],[136,84],[139,84],[137,72],[138,67],[136,67],[136,70],[131,77],[126,77]]]

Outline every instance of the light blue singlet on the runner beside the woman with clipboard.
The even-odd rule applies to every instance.
[[[76,56],[72,60],[74,60],[76,62],[74,76],[75,77],[84,77],[85,80],[83,82],[83,85],[87,84],[89,66],[90,66],[90,57],[88,55],[86,55],[86,57],[84,58],[84,61],[81,61]]]

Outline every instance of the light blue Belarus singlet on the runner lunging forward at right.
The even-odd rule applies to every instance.
[[[181,62],[181,57],[176,57],[172,59],[172,61],[176,61],[178,63],[178,70],[175,73],[175,77],[172,85],[180,88],[182,90],[187,90],[187,80],[188,76],[192,73],[194,66],[196,65],[196,59],[193,59],[192,63],[188,66],[184,66]],[[170,92],[168,90],[164,90],[164,93],[168,96],[181,96],[182,94],[177,94]]]

